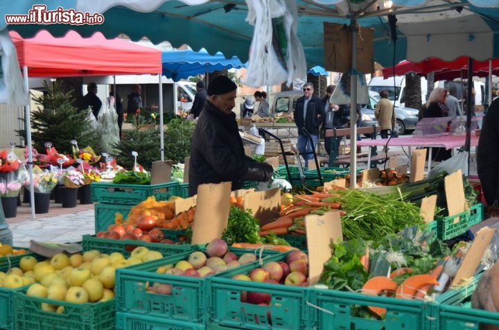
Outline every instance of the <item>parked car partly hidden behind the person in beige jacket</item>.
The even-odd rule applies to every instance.
[[[374,109],[380,99],[378,92],[369,91],[369,103],[362,106],[362,124],[360,126],[373,125],[376,121]],[[395,107],[396,122],[394,130],[397,134],[411,134],[416,129],[419,110],[412,107]]]

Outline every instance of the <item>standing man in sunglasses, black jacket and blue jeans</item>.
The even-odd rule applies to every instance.
[[[305,83],[303,90],[304,96],[298,98],[293,116],[298,128],[297,148],[299,153],[304,154],[305,168],[308,168],[308,159],[313,159],[312,146],[303,129],[305,128],[312,137],[312,143],[315,148],[317,146],[317,139],[319,138],[319,126],[324,121],[326,115],[324,114],[324,103],[322,103],[319,97],[313,95],[313,84]]]

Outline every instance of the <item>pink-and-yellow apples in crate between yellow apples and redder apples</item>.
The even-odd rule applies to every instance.
[[[168,263],[156,269],[159,274],[183,275],[188,277],[207,277],[246,263],[256,261],[256,254],[247,252],[238,257],[229,251],[227,242],[216,238],[206,246],[206,253],[194,251],[185,260]],[[148,287],[152,293],[171,295],[171,284],[153,283]]]

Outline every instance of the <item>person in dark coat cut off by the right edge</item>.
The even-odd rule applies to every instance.
[[[489,216],[499,216],[499,98],[491,103],[484,116],[476,159]]]

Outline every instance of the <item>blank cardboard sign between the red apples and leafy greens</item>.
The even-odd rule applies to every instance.
[[[324,216],[305,216],[308,248],[308,281],[317,284],[324,269],[324,263],[331,258],[329,244],[343,241],[340,211],[327,212]]]

